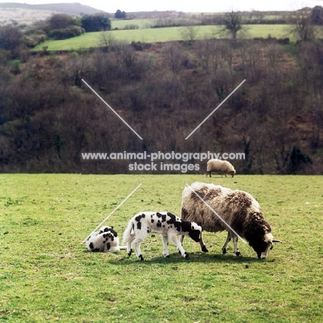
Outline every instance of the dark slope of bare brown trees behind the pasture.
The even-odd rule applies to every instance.
[[[85,161],[81,153],[160,150],[244,153],[232,161],[237,173],[322,174],[322,57],[320,40],[110,38],[61,55],[2,48],[1,172],[127,173],[130,161]]]

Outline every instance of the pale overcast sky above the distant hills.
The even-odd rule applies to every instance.
[[[11,2],[0,0],[0,3]],[[224,12],[237,10],[297,10],[306,6],[323,6],[323,0],[28,0],[12,1],[28,4],[81,3],[95,9],[114,13],[117,9],[125,12],[176,10],[183,12]]]

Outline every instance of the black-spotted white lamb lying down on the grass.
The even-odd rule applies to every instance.
[[[113,226],[102,226],[100,231],[92,233],[86,241],[86,248],[88,251],[101,251],[102,253],[126,250],[125,246],[119,246],[119,237],[113,230]]]

